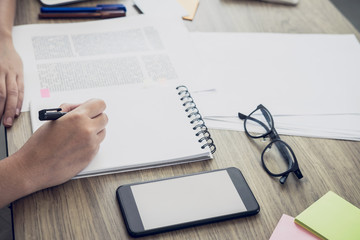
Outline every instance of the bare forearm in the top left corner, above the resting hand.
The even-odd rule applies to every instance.
[[[0,42],[11,39],[15,19],[16,0],[0,0]]]

